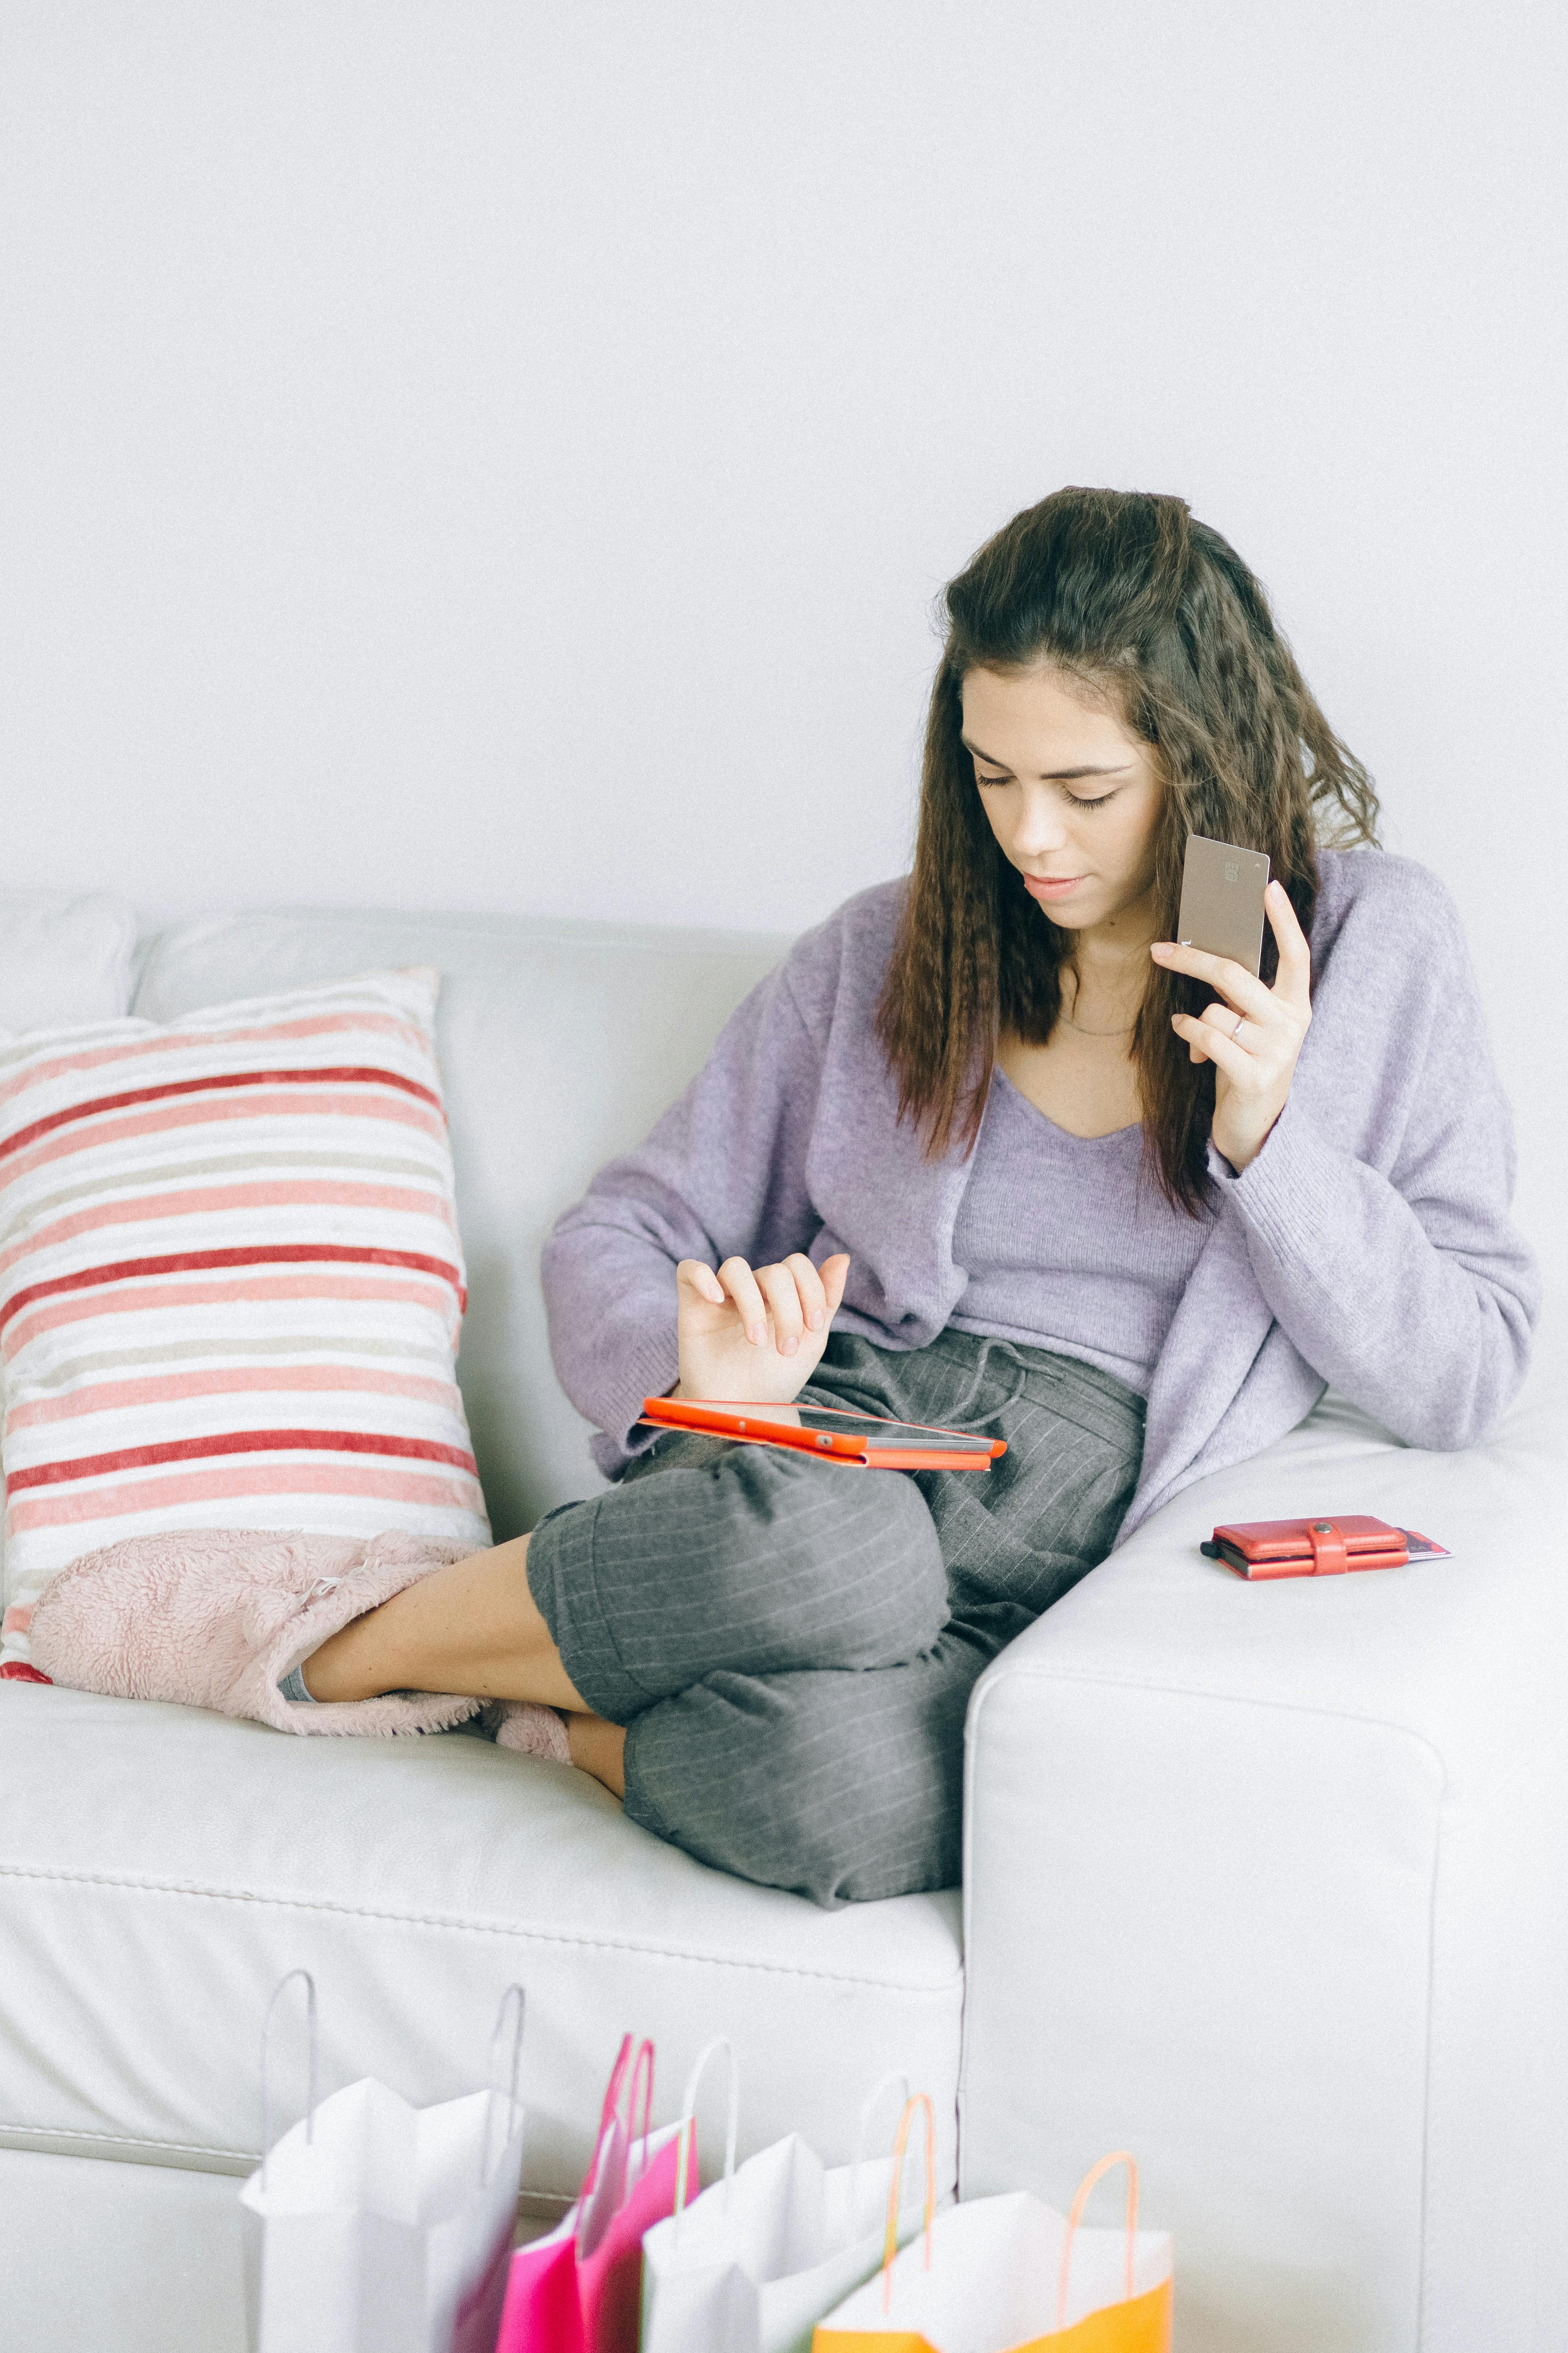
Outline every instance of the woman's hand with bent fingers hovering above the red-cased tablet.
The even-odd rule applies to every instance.
[[[703,1259],[675,1268],[679,1381],[675,1398],[755,1398],[788,1405],[816,1372],[844,1299],[849,1252],[811,1264],[804,1249],[780,1266]]]

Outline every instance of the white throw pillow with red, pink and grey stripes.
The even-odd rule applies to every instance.
[[[0,1038],[5,1664],[120,1537],[489,1544],[437,986]]]

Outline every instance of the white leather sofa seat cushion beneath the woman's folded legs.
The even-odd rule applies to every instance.
[[[482,1739],[296,1741],[26,1682],[0,1685],[0,2148],[244,2172],[261,2017],[308,1967],[322,2089],[371,2073],[416,2104],[475,2087],[520,1979],[529,2188],[576,2191],[625,2028],[658,2045],[658,2120],[731,2038],[743,2155],[804,2132],[846,2162],[903,2068],[952,2186],[957,1892],[825,1913]],[[282,2031],[277,2064],[299,2113]]]

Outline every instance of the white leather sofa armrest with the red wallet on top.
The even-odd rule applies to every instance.
[[[961,2195],[1133,2148],[1192,2348],[1547,2344],[1568,2155],[1568,1351],[1483,1447],[1326,1398],[1168,1504],[969,1711]],[[1222,1520],[1425,1567],[1246,1584]]]

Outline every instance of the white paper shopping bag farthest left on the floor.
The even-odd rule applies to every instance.
[[[268,2148],[266,2038],[294,1977],[310,2106]],[[512,2000],[508,2094],[411,2108],[367,2075],[317,2104],[315,1984],[292,1969],[277,1986],[261,2033],[263,2158],[240,2191],[252,2353],[491,2353],[522,2177],[522,1986],[508,1986],[496,2035]]]

